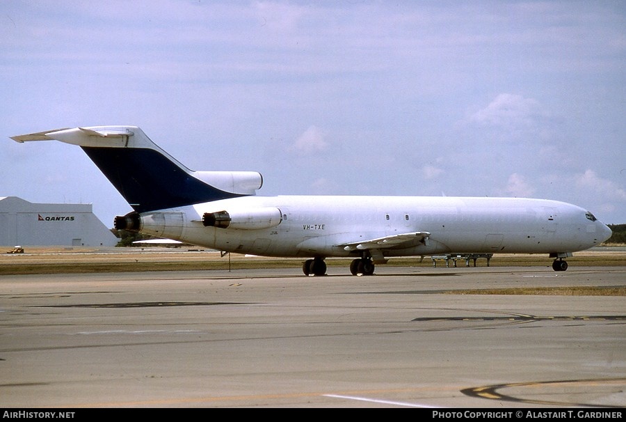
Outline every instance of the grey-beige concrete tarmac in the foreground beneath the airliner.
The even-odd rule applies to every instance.
[[[0,276],[1,407],[626,406],[623,266]]]

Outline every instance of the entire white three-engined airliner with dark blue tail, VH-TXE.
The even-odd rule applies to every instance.
[[[443,253],[547,253],[563,258],[607,240],[591,212],[531,198],[256,196],[261,174],[191,171],[135,126],[95,126],[13,136],[81,146],[134,211],[115,228],[234,253],[303,257],[306,275],[327,257],[354,258],[355,275],[390,257]]]

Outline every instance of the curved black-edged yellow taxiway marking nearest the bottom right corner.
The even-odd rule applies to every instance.
[[[527,403],[531,405],[549,405],[549,406],[592,406],[592,407],[615,407],[614,405],[600,405],[595,403],[569,403],[569,402],[557,402],[550,400],[536,400],[529,398],[521,398],[515,396],[506,396],[504,394],[498,393],[497,390],[511,388],[511,387],[532,387],[532,386],[559,386],[559,384],[564,386],[577,386],[583,384],[590,384],[591,386],[597,386],[597,384],[616,384],[616,388],[619,389],[620,393],[623,392],[624,384],[626,383],[626,378],[609,378],[606,380],[596,379],[596,380],[565,380],[565,381],[544,381],[544,382],[516,382],[511,384],[495,384],[488,386],[479,386],[472,387],[470,389],[463,389],[461,393],[465,394],[465,396],[475,397],[475,398],[486,398],[488,400],[503,400],[515,403]]]

